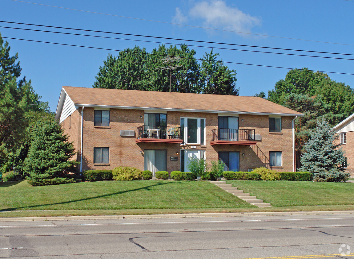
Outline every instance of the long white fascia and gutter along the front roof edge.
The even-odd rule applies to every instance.
[[[197,112],[197,113],[227,113],[227,114],[252,114],[252,115],[281,115],[281,116],[304,116],[303,114],[293,113],[259,113],[259,112],[239,112],[239,111],[223,111],[223,110],[195,110],[195,109],[172,109],[172,108],[152,108],[152,107],[129,107],[129,106],[109,106],[75,103],[75,106],[99,107],[99,108],[115,108],[115,109],[134,109],[134,110],[165,110],[169,112]]]

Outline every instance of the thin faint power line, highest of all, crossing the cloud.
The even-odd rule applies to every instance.
[[[248,34],[248,35],[257,35],[257,36],[265,36],[265,37],[273,37],[273,38],[282,38],[282,39],[287,39],[287,40],[310,41],[310,42],[319,42],[319,43],[329,43],[329,44],[339,44],[339,45],[354,46],[353,44],[346,44],[346,43],[336,43],[336,42],[326,42],[326,41],[305,40],[305,39],[290,38],[290,37],[281,37],[281,36],[273,36],[273,35],[265,35],[265,34],[256,34],[256,33],[250,33],[250,32],[242,32],[242,31],[231,31],[231,30],[207,28],[207,27],[202,27],[202,26],[195,26],[195,25],[188,25],[188,24],[179,24],[179,23],[170,23],[170,22],[162,22],[162,21],[149,20],[149,19],[143,19],[143,18],[136,18],[136,17],[129,17],[129,16],[121,16],[121,15],[116,15],[116,14],[99,13],[99,12],[93,12],[93,11],[79,10],[79,9],[68,8],[68,7],[61,7],[61,6],[54,6],[54,5],[44,5],[44,4],[32,3],[32,2],[26,2],[26,1],[19,1],[19,0],[12,0],[12,1],[15,1],[15,2],[22,2],[22,3],[27,3],[27,4],[33,4],[33,5],[42,5],[42,6],[48,6],[48,7],[55,7],[55,8],[61,8],[61,9],[73,10],[73,11],[80,11],[80,12],[95,13],[95,14],[103,14],[103,15],[109,15],[109,16],[115,16],[115,17],[122,17],[122,18],[143,20],[143,21],[147,21],[147,22],[155,22],[155,23],[165,23],[165,24],[172,24],[172,25],[187,26],[187,27],[199,28],[199,29],[216,30],[216,31],[226,31],[226,32],[235,32],[235,33]],[[350,0],[346,0],[346,1],[350,1]]]

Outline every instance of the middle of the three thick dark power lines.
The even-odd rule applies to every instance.
[[[88,34],[76,34],[76,33],[59,32],[59,31],[46,31],[46,30],[35,30],[35,29],[15,28],[15,27],[8,27],[8,26],[0,26],[0,28],[17,29],[17,30],[27,30],[27,31],[51,32],[51,33],[57,33],[57,34],[67,34],[67,35],[77,35],[77,36],[88,36],[88,37],[97,37],[97,38],[109,38],[109,39],[116,39],[116,40],[140,41],[140,42],[161,43],[161,44],[178,44],[178,45],[180,45],[179,43],[170,43],[170,42],[133,40],[133,39],[126,39],[126,38],[116,38],[116,37],[97,36],[97,35],[88,35]],[[302,55],[302,54],[291,54],[291,53],[280,53],[280,52],[267,52],[267,51],[247,50],[247,49],[232,49],[232,48],[221,48],[221,47],[200,46],[200,45],[190,45],[190,44],[189,44],[188,46],[190,46],[190,47],[200,47],[200,48],[213,48],[213,49],[225,49],[225,50],[237,50],[237,51],[246,51],[246,52],[267,53],[267,54],[281,54],[281,55],[291,55],[291,56],[304,56],[304,57],[312,57],[312,58],[354,60],[354,59],[349,59],[349,58],[337,58],[337,57],[328,57],[328,56]],[[331,54],[334,54],[334,53],[331,53]],[[342,54],[342,55],[351,55],[351,56],[354,56],[354,54]]]

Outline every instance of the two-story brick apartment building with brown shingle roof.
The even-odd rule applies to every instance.
[[[80,170],[187,171],[189,157],[225,170],[293,171],[294,110],[260,97],[63,86],[55,118]],[[81,141],[82,139],[82,141]]]

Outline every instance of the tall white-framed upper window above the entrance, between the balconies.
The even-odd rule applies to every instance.
[[[185,143],[205,145],[205,119],[181,118],[181,130]]]

